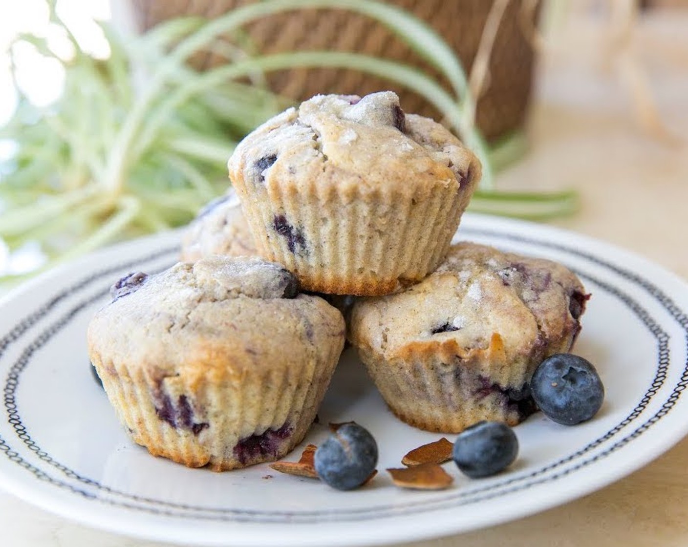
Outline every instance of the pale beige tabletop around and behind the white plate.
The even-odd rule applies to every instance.
[[[567,28],[568,29],[568,28]],[[505,188],[576,186],[582,210],[553,224],[632,249],[688,279],[688,16],[655,14],[634,45],[649,67],[667,147],[638,129],[594,23],[563,30],[541,65],[532,149]],[[671,46],[667,49],[667,45]],[[688,419],[688,416],[687,416]],[[564,506],[416,547],[688,546],[688,439],[644,469]],[[67,522],[0,492],[2,547],[153,547]]]

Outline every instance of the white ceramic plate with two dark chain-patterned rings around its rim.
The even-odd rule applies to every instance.
[[[0,485],[83,524],[158,541],[385,544],[562,504],[638,469],[688,432],[682,281],[630,253],[545,226],[466,215],[458,235],[561,261],[593,294],[576,352],[596,363],[605,404],[577,427],[530,417],[515,429],[521,450],[508,472],[470,480],[449,462],[455,483],[447,491],[393,486],[384,469],[440,436],[396,420],[351,350],[304,444],[321,442],[327,422],[365,425],[378,440],[381,472],[363,489],[335,491],[266,464],[228,473],[186,469],[129,442],[91,376],[84,333],[118,277],[173,264],[178,234],[171,233],[58,268],[0,303]]]

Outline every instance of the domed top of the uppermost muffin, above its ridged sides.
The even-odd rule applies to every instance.
[[[228,163],[230,179],[256,186],[317,180],[339,191],[431,192],[438,184],[467,194],[480,162],[449,130],[405,114],[393,92],[317,95],[250,133]],[[470,191],[469,191],[470,190]]]

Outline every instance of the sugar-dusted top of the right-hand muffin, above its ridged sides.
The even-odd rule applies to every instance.
[[[390,360],[427,354],[449,363],[481,352],[505,363],[543,358],[570,349],[587,299],[560,264],[460,243],[417,285],[357,301],[350,338]]]

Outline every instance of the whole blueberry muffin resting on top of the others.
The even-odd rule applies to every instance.
[[[315,96],[250,133],[228,168],[261,256],[305,289],[366,295],[440,264],[481,173],[392,92]]]

